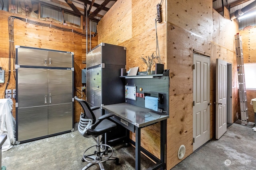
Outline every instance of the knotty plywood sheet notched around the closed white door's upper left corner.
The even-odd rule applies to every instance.
[[[170,23],[167,24],[167,65],[170,68],[170,96],[192,93],[193,50],[204,55],[210,55],[211,44],[185,29]],[[175,37],[179,38],[176,39]]]

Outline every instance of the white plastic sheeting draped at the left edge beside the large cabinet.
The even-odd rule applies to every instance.
[[[15,143],[15,119],[12,116],[12,99],[0,99],[0,135],[7,134],[7,139],[2,145],[2,150],[12,148]]]

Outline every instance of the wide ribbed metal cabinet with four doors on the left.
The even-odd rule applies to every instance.
[[[73,54],[16,47],[16,141],[73,131]]]

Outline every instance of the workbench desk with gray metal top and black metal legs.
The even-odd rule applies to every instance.
[[[169,118],[169,115],[161,115],[149,109],[145,109],[138,106],[133,106],[126,103],[120,104],[111,104],[102,106],[103,113],[112,113],[115,116],[113,120],[125,127],[126,129],[136,132],[136,141],[135,141],[135,168],[140,170],[140,151],[144,150],[140,146],[141,139],[141,128],[153,125],[154,123],[160,122],[160,160],[153,167],[148,169],[154,170],[161,168],[166,169],[165,164],[165,155],[166,155],[166,119]],[[105,112],[106,111],[106,112]],[[145,153],[145,152],[144,152]],[[149,152],[145,154],[148,155]]]

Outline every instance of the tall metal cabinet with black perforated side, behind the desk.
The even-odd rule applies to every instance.
[[[100,43],[86,54],[86,100],[91,106],[124,102],[121,68],[126,66],[126,48]],[[101,109],[94,111],[98,118]]]

